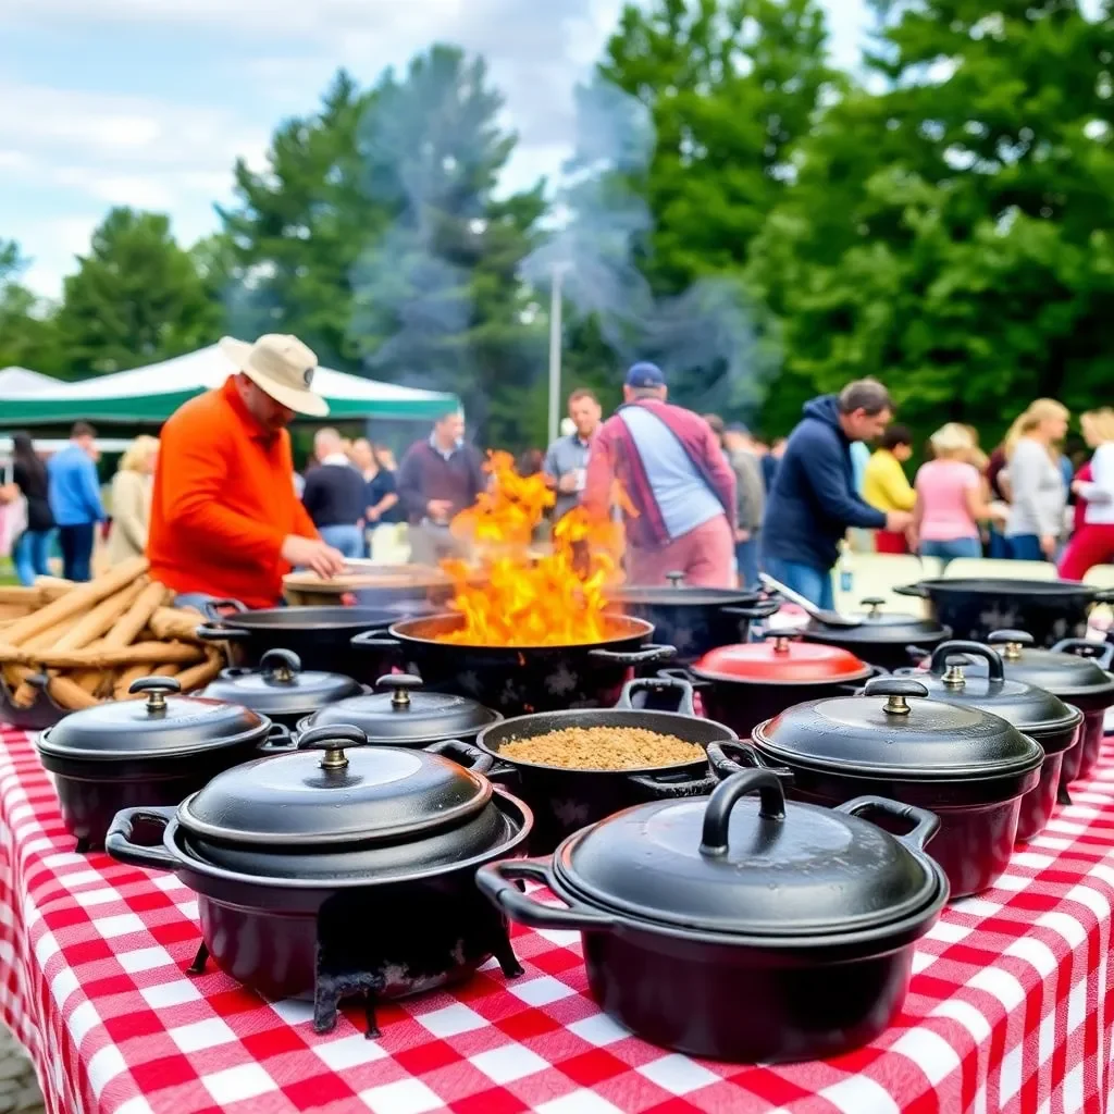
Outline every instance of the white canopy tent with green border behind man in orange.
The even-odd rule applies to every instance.
[[[212,344],[163,363],[76,383],[55,381],[33,394],[0,384],[0,426],[58,426],[72,421],[162,424],[183,402],[221,383],[235,369]],[[380,383],[319,368],[314,390],[329,401],[332,420],[375,418],[427,420],[459,407],[452,394]]]

